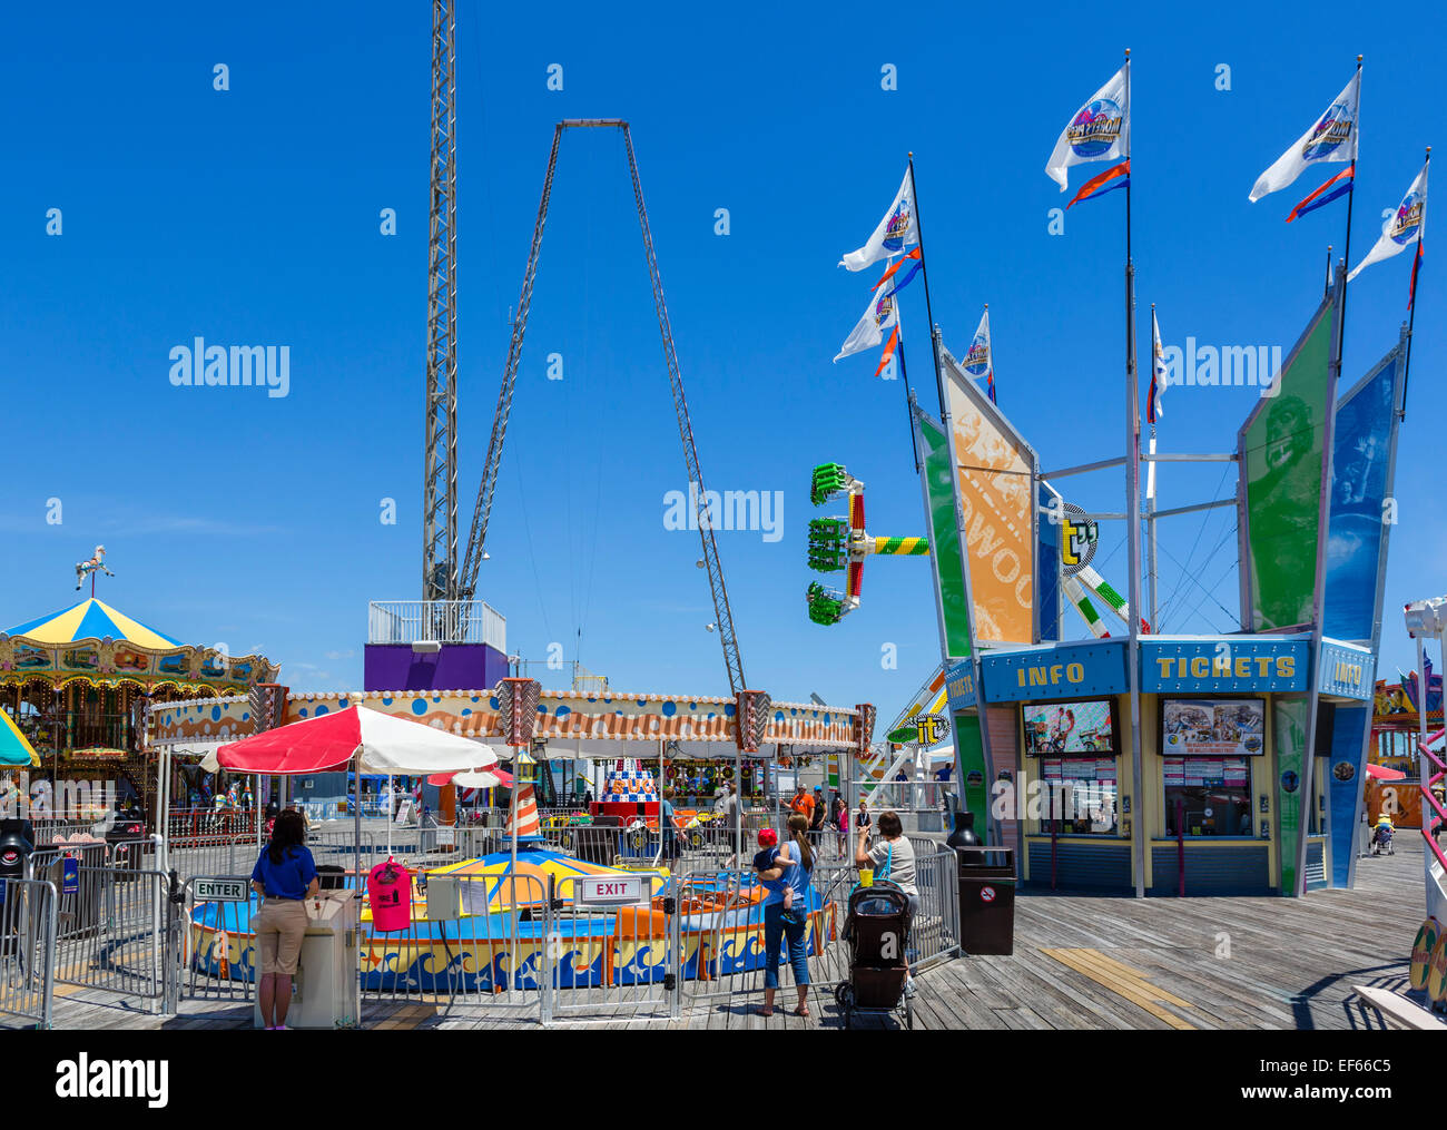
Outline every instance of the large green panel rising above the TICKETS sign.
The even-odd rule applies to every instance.
[[[1334,300],[1323,302],[1240,431],[1242,561],[1250,631],[1311,622],[1321,538],[1321,453],[1331,409]]]

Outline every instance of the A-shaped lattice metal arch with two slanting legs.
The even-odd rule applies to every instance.
[[[745,689],[744,663],[738,653],[738,638],[734,634],[734,612],[728,603],[724,586],[724,567],[719,564],[718,543],[713,537],[708,493],[703,489],[703,472],[699,469],[699,451],[693,441],[693,424],[689,421],[689,402],[683,394],[683,373],[679,369],[679,354],[673,347],[673,330],[669,326],[669,308],[663,301],[663,278],[658,273],[658,259],[653,250],[653,233],[648,230],[648,211],[642,203],[642,184],[638,179],[638,162],[634,158],[632,135],[628,123],[621,119],[570,119],[560,122],[553,130],[553,149],[547,159],[547,175],[543,178],[543,200],[538,203],[537,223],[532,227],[532,247],[528,252],[528,269],[522,276],[522,295],[518,298],[518,314],[512,323],[512,341],[508,346],[508,365],[502,373],[502,388],[498,392],[498,409],[492,420],[492,438],[488,441],[488,462],[483,466],[482,486],[472,515],[472,531],[467,537],[467,553],[463,558],[457,596],[470,600],[478,585],[478,569],[482,564],[483,547],[488,540],[488,519],[492,514],[492,493],[498,485],[498,467],[502,462],[502,443],[508,431],[508,415],[512,411],[512,391],[517,385],[518,360],[522,354],[522,336],[528,324],[528,305],[532,301],[532,282],[537,278],[538,250],[543,246],[543,226],[547,223],[548,198],[553,192],[553,174],[557,168],[557,149],[566,129],[611,127],[624,135],[628,150],[628,172],[632,177],[634,203],[638,205],[638,227],[642,231],[642,250],[648,260],[648,279],[653,284],[653,304],[658,314],[658,334],[663,339],[663,357],[669,368],[669,386],[673,391],[673,407],[679,417],[679,438],[683,440],[683,462],[689,482],[697,485],[699,540],[703,545],[703,566],[709,574],[709,589],[713,593],[713,616],[718,625],[719,642],[724,645],[724,666],[728,668],[731,690],[738,694]]]

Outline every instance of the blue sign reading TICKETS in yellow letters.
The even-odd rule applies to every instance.
[[[1310,657],[1307,640],[1142,640],[1140,690],[1146,694],[1283,694],[1311,684]]]

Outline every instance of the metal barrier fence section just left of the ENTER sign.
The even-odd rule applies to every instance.
[[[55,980],[146,1001],[166,988],[166,894],[159,871],[81,865],[59,888]]]

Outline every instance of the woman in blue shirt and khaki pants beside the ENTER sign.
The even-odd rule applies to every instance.
[[[287,809],[276,817],[271,844],[262,849],[252,868],[252,890],[265,900],[252,922],[262,964],[262,1024],[268,1032],[287,1029],[291,978],[297,975],[301,936],[307,932],[304,900],[320,887],[317,864],[305,839],[307,825],[301,813]]]

